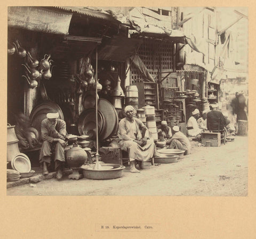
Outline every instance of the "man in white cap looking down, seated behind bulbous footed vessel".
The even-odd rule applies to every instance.
[[[62,178],[62,170],[65,162],[64,149],[66,147],[66,122],[58,119],[59,113],[47,113],[47,118],[41,123],[41,137],[43,139],[39,162],[43,164],[43,175],[49,174],[47,164],[51,163],[52,152],[55,152],[56,178]]]

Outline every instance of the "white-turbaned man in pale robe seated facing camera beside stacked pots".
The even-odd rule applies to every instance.
[[[124,109],[126,117],[119,122],[118,137],[122,150],[129,153],[130,172],[140,172],[136,169],[135,160],[139,161],[140,168],[143,162],[153,158],[157,154],[153,138],[149,138],[147,127],[134,118],[134,109],[127,105]]]

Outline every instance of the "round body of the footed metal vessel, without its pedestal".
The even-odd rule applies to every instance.
[[[87,153],[78,144],[73,144],[66,153],[66,162],[70,168],[79,168],[86,161]]]

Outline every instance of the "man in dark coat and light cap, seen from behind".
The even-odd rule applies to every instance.
[[[217,108],[218,103],[216,102],[210,105],[211,111],[207,113],[208,130],[223,130],[230,123],[230,120],[226,119]]]

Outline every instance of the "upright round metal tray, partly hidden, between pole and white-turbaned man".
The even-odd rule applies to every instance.
[[[114,106],[104,98],[99,99],[98,109],[106,119],[105,130],[100,133],[100,139],[105,140],[117,133],[118,129],[118,115]]]

